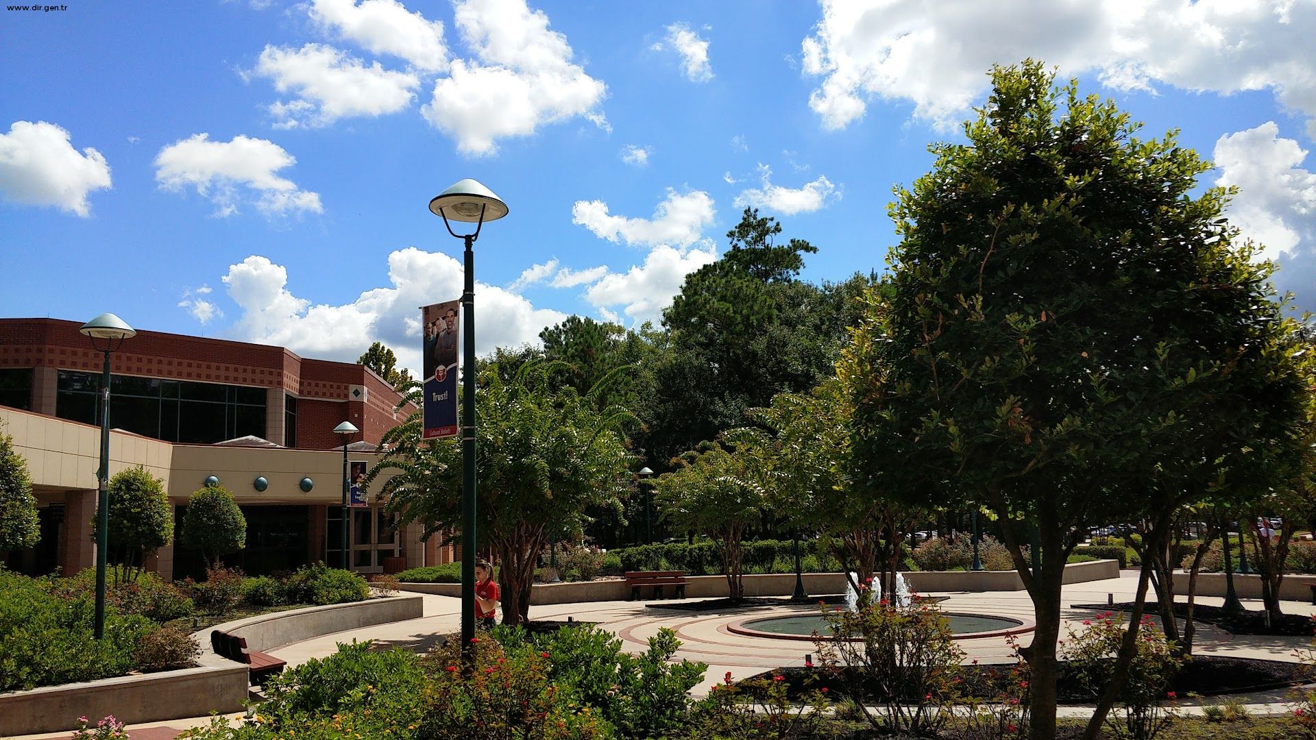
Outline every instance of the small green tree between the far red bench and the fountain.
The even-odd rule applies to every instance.
[[[726,593],[736,602],[745,598],[745,531],[762,520],[767,506],[761,462],[709,442],[680,456],[676,469],[654,482],[665,519],[717,541]]]

